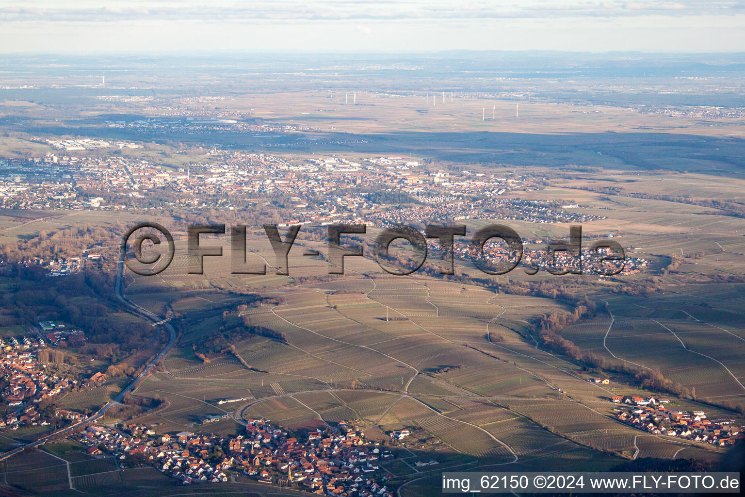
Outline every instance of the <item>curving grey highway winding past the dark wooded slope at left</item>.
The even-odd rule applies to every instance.
[[[171,323],[168,323],[167,320],[163,320],[162,317],[153,314],[152,312],[148,311],[145,308],[142,308],[138,306],[136,303],[131,302],[127,299],[127,297],[124,297],[124,294],[122,294],[122,288],[124,288],[124,251],[122,251],[119,254],[119,262],[116,269],[116,282],[115,282],[115,292],[116,297],[118,300],[121,300],[121,303],[124,303],[125,306],[130,308],[130,312],[133,314],[137,314],[139,317],[142,317],[146,320],[153,321],[153,323],[162,323],[163,326],[165,326],[165,329],[168,330],[168,344],[165,344],[163,349],[156,355],[152,361],[148,363],[147,366],[142,370],[142,373],[139,373],[130,384],[127,385],[127,387],[124,388],[124,390],[121,390],[119,392],[118,396],[116,396],[115,399],[113,399],[110,402],[107,402],[106,405],[104,405],[101,409],[96,411],[94,414],[91,414],[89,417],[86,417],[86,419],[75,423],[74,425],[70,425],[67,428],[62,428],[60,430],[54,431],[54,433],[48,434],[45,437],[39,438],[39,440],[36,440],[35,442],[31,442],[26,444],[25,446],[16,447],[16,449],[11,450],[10,452],[4,452],[0,455],[0,460],[5,460],[7,458],[10,458],[10,456],[19,454],[19,452],[23,452],[25,449],[33,449],[34,447],[43,445],[48,440],[50,440],[52,437],[59,437],[60,435],[69,433],[70,431],[74,430],[75,428],[80,428],[80,426],[86,425],[89,422],[98,420],[98,418],[103,417],[104,414],[106,414],[106,411],[108,411],[112,405],[115,405],[119,402],[121,402],[124,399],[124,395],[127,394],[127,392],[130,392],[133,390],[135,384],[139,381],[139,379],[144,378],[145,376],[148,376],[150,373],[150,370],[155,367],[156,364],[158,364],[158,361],[160,361],[162,358],[165,357],[166,354],[171,350],[171,347],[174,346],[176,343],[176,329],[171,325]]]

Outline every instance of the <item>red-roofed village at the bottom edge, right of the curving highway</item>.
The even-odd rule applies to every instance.
[[[322,495],[393,497],[385,485],[392,475],[379,465],[393,453],[344,421],[301,438],[263,419],[247,420],[245,434],[236,437],[191,431],[159,436],[152,428],[92,425],[71,437],[89,455],[106,452],[120,463],[152,465],[185,485],[242,475]]]

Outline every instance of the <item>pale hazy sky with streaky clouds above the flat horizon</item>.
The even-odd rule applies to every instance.
[[[745,51],[745,0],[0,0],[5,54],[455,49]]]

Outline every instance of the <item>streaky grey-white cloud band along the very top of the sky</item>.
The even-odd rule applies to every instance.
[[[735,14],[745,10],[742,0],[530,0],[512,4],[492,1],[360,1],[299,0],[212,4],[192,1],[111,1],[107,7],[88,4],[27,0],[24,4],[0,7],[0,22],[128,22],[128,21],[358,21],[358,31],[367,34],[364,22],[448,22],[473,19],[555,19],[557,17],[700,16]],[[359,29],[362,27],[363,29]]]

